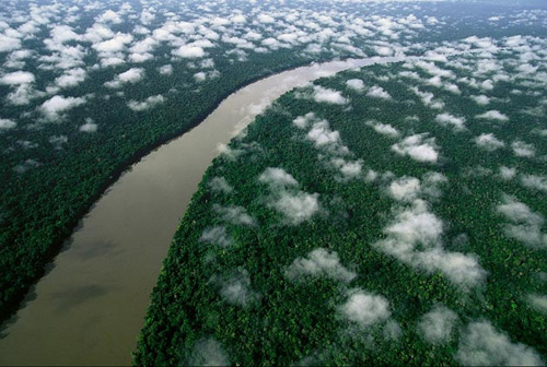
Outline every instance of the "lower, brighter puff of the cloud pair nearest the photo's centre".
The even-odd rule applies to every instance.
[[[271,206],[284,216],[291,225],[299,225],[311,220],[319,212],[319,194],[307,192],[282,192]]]

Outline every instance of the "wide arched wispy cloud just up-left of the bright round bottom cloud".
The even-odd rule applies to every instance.
[[[298,258],[286,271],[286,276],[290,280],[299,280],[304,275],[326,276],[345,283],[357,276],[340,263],[338,253],[324,248],[313,250],[306,258]]]

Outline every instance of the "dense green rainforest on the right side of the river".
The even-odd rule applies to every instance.
[[[544,365],[547,55],[519,39],[257,117],[193,198],[135,364]]]

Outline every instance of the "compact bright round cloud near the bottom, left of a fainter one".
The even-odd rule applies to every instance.
[[[362,289],[350,291],[348,300],[339,306],[338,310],[349,321],[361,327],[386,321],[392,316],[389,303],[385,297]]]

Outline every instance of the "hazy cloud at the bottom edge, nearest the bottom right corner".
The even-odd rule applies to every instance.
[[[513,343],[490,322],[472,322],[462,333],[456,359],[464,366],[544,366],[537,352]]]

